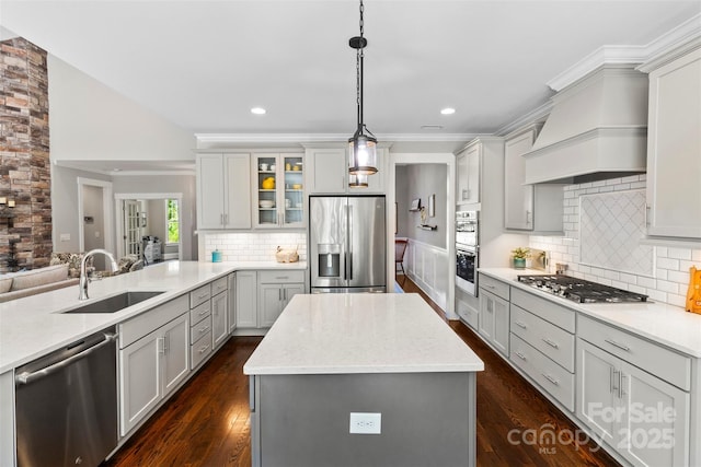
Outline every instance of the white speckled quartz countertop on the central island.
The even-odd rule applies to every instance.
[[[249,375],[483,370],[413,293],[295,295],[243,366]]]

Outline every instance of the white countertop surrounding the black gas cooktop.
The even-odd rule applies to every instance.
[[[551,295],[516,280],[518,275],[543,275],[538,270],[484,268],[479,272],[501,279],[535,295],[542,296],[582,314],[611,324],[621,329],[662,343],[682,353],[701,358],[701,315],[687,313],[678,306],[664,303],[575,303]]]

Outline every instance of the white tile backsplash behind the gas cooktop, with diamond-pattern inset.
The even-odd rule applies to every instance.
[[[701,267],[701,249],[639,243],[645,227],[639,194],[645,180],[643,174],[566,186],[564,236],[531,235],[530,247],[551,252],[551,266],[566,264],[570,276],[685,306],[689,268]],[[628,230],[623,236],[622,230]],[[627,243],[616,246],[623,237]],[[636,259],[631,264],[621,250]]]

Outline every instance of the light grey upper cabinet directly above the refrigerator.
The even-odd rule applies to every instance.
[[[368,176],[367,188],[348,187],[348,150],[343,148],[308,148],[307,184],[311,195],[383,194],[388,150],[377,149],[378,173]]]

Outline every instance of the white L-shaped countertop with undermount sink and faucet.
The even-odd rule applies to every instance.
[[[138,271],[93,281],[89,301],[78,300],[78,285],[0,303],[0,373],[20,366],[82,337],[125,322],[156,305],[237,270],[307,269],[307,262],[165,261]],[[125,291],[163,291],[111,314],[61,312]]]

